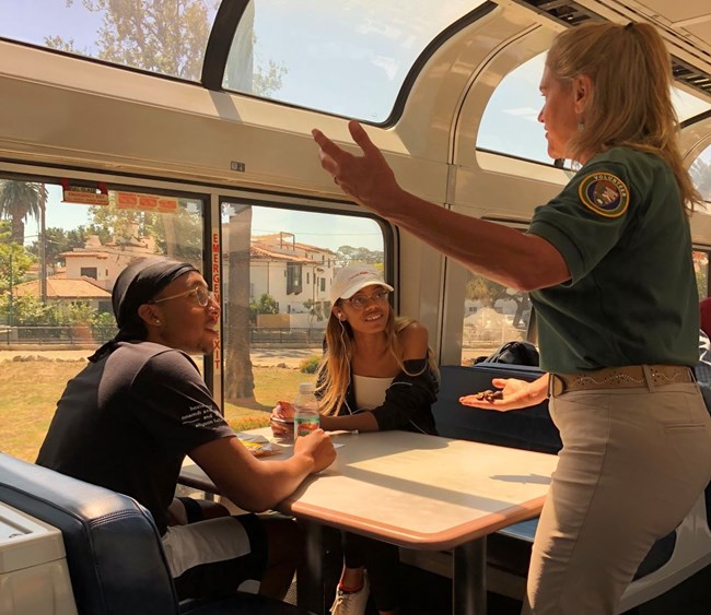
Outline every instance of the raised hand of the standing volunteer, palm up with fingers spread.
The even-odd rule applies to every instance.
[[[363,151],[362,156],[340,149],[320,130],[312,130],[319,147],[320,166],[334,176],[334,181],[343,192],[368,209],[386,214],[388,203],[400,191],[395,174],[360,123],[351,120],[348,122],[348,130]]]

